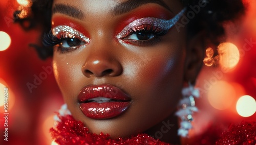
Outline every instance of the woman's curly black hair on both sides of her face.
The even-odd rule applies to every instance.
[[[200,7],[200,11],[189,19],[187,24],[188,37],[191,38],[204,30],[216,45],[220,43],[219,38],[225,34],[223,22],[235,20],[243,15],[245,11],[243,0],[180,1],[184,7],[187,7],[187,12],[195,11],[195,7],[200,3],[204,4],[204,7]],[[51,29],[52,3],[53,0],[36,0],[31,6],[31,15],[26,18],[20,18],[20,11],[15,11],[13,14],[14,22],[20,23],[25,30],[39,28],[42,32],[40,39],[42,39],[44,34]],[[29,25],[24,25],[25,22],[29,22]],[[53,49],[50,47],[45,47],[42,44],[31,45],[35,47],[39,57],[43,60],[53,55]]]

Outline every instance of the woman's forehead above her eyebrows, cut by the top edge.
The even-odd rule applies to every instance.
[[[75,7],[85,14],[110,14],[117,7],[129,7],[132,10],[150,4],[161,6],[172,13],[178,13],[182,9],[180,0],[54,0],[53,8],[56,4]]]

